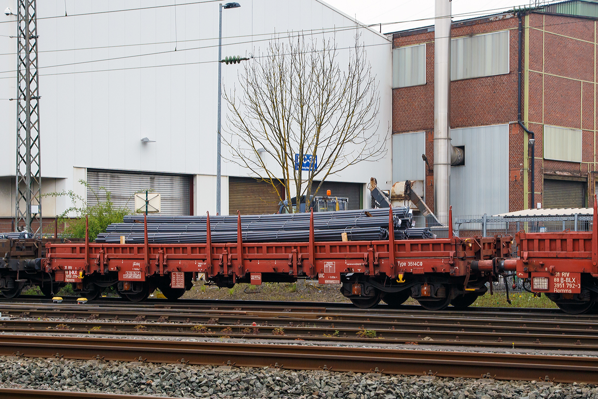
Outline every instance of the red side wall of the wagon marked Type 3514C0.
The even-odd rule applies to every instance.
[[[248,273],[282,273],[337,283],[341,273],[465,276],[474,260],[508,256],[511,243],[511,237],[394,240],[392,233],[381,241],[315,242],[313,232],[312,218],[309,242],[243,243],[239,234],[235,243],[211,243],[209,237],[195,244],[49,243],[42,263],[45,272],[60,272],[57,281],[65,282],[81,282],[92,273],[118,272],[119,280],[145,281],[152,275],[199,272],[208,278],[230,276],[233,282]],[[60,279],[62,272],[66,280]]]

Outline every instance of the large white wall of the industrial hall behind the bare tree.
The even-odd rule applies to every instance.
[[[286,32],[335,28],[340,64],[347,58],[356,33],[350,27],[355,23],[323,2],[239,2],[240,8],[222,11],[223,57],[257,55],[276,38],[274,32],[286,38]],[[43,176],[63,179],[60,187],[65,190],[77,188],[85,168],[206,176],[197,179],[199,187],[194,186],[196,212],[215,212],[215,200],[210,199],[215,194],[201,185],[208,184],[207,176],[215,179],[216,173],[218,3],[178,5],[176,11],[161,7],[100,13],[171,4],[170,0],[67,0],[69,17],[64,17],[63,0],[38,2]],[[6,5],[16,10],[16,0]],[[76,16],[87,13],[99,14]],[[2,15],[0,20],[11,19],[15,17]],[[0,23],[0,35],[15,31],[16,23]],[[371,29],[358,31],[379,81],[378,132],[390,141],[391,43]],[[321,40],[321,33],[314,37]],[[0,36],[0,42],[0,99],[14,98],[16,39]],[[238,85],[241,69],[222,65],[225,90]],[[226,114],[223,102],[223,129]],[[0,124],[0,148],[8,149],[2,151],[0,176],[14,176],[14,101],[0,100],[0,118],[5,121]],[[144,137],[155,142],[143,144]],[[389,151],[380,162],[349,167],[329,180],[367,183],[375,176],[379,182],[390,181],[390,158]],[[247,176],[248,171],[223,162],[222,175]],[[223,182],[223,210],[228,209],[225,190]],[[68,201],[56,200],[56,212],[68,206]],[[4,208],[0,207],[0,217],[14,213],[5,215]],[[50,208],[43,210],[51,216]]]

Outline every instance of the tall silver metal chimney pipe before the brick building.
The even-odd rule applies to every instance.
[[[435,0],[434,21],[434,208],[444,223],[449,217],[450,166],[450,0]]]

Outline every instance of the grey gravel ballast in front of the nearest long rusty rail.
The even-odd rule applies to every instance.
[[[0,386],[185,398],[596,398],[594,384],[0,357]]]

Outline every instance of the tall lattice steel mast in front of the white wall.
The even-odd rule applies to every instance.
[[[18,0],[15,228],[41,230],[39,79],[36,0]],[[37,221],[35,224],[34,222]],[[35,229],[35,230],[33,230]]]

